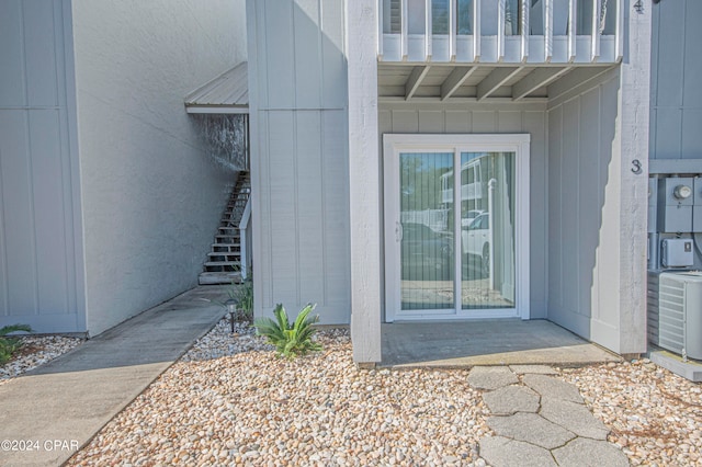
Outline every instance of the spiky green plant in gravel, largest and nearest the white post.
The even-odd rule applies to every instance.
[[[307,352],[320,351],[321,345],[312,340],[315,332],[317,332],[313,324],[319,321],[319,316],[308,316],[315,309],[315,306],[309,304],[303,308],[291,324],[285,308],[283,308],[282,304],[278,304],[273,310],[275,320],[258,318],[253,322],[256,333],[265,337],[269,343],[275,345],[278,354],[286,358],[294,358]]]

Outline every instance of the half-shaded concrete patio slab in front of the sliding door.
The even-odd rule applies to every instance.
[[[395,322],[383,324],[382,333],[385,367],[575,367],[622,361],[546,320]]]

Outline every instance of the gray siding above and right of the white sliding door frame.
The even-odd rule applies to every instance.
[[[530,148],[530,310],[546,318],[547,168],[545,104],[392,104],[382,103],[380,139],[393,134],[531,135]],[[381,153],[382,149],[381,149]]]

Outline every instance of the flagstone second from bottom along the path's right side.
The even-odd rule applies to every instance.
[[[604,423],[596,419],[588,408],[581,403],[543,396],[539,414],[578,436],[607,440],[607,435],[610,433]]]

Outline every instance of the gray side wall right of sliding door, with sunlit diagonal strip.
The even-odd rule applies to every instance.
[[[616,330],[619,73],[548,111],[548,319],[588,339]]]

